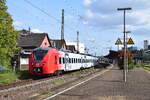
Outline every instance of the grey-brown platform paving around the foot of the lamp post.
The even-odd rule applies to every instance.
[[[150,100],[150,73],[135,68],[127,73],[124,83],[123,71],[113,67],[51,100]]]

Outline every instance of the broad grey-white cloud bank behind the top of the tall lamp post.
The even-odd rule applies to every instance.
[[[90,0],[82,21],[101,30],[120,29],[123,24],[123,12],[117,11],[120,7],[132,7],[126,13],[128,30],[149,29],[149,0]]]

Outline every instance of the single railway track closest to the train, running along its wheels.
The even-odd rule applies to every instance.
[[[78,73],[78,72],[79,71],[76,71],[75,73]],[[46,77],[46,78],[43,78],[43,79],[37,79],[37,80],[27,79],[27,80],[22,80],[22,81],[19,81],[19,82],[14,82],[12,84],[0,85],[0,94],[8,93],[8,92],[11,92],[11,91],[16,91],[18,89],[34,87],[36,85],[40,85],[40,84],[44,84],[44,83],[50,83],[53,80],[64,78],[66,76],[71,75],[72,73],[74,73],[74,72],[69,72],[69,73],[63,74],[61,76],[50,76],[50,77]]]

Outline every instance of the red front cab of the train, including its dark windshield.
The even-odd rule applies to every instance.
[[[54,74],[59,70],[56,49],[35,50],[29,58],[29,72],[33,75]]]

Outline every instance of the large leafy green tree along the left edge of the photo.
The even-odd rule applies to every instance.
[[[11,57],[17,50],[18,32],[14,29],[13,20],[7,12],[6,0],[0,0],[0,65],[8,67]]]

